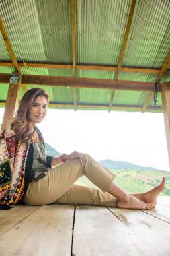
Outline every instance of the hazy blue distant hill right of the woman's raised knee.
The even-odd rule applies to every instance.
[[[131,164],[130,162],[113,161],[110,159],[105,159],[98,162],[99,164],[105,166],[105,168],[115,170],[158,170],[153,167],[144,167],[137,164]]]

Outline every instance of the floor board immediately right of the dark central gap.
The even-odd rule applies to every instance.
[[[155,255],[105,207],[77,207],[73,255]]]

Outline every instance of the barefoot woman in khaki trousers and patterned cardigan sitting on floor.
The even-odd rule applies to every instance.
[[[115,182],[115,175],[77,151],[53,158],[46,154],[37,123],[46,116],[49,96],[40,88],[24,94],[16,117],[0,136],[0,204],[71,203],[129,209],[152,209],[165,188],[130,195]],[[50,132],[50,131],[47,131]],[[57,133],[56,133],[57,139]],[[99,189],[75,185],[85,175]],[[2,179],[3,177],[3,179]]]

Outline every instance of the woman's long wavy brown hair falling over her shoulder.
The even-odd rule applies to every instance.
[[[28,141],[32,136],[33,126],[28,120],[28,113],[30,106],[38,96],[44,96],[49,102],[49,96],[41,88],[32,88],[28,90],[22,97],[21,103],[17,110],[17,115],[11,123],[11,128],[15,131],[17,139],[21,141]]]

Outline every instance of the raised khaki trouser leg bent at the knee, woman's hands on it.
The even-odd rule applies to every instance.
[[[83,164],[78,159],[65,162],[46,172],[46,177],[28,186],[23,202],[28,205],[54,203],[64,195],[81,177],[85,175],[104,192],[114,180],[115,175],[85,155]]]

